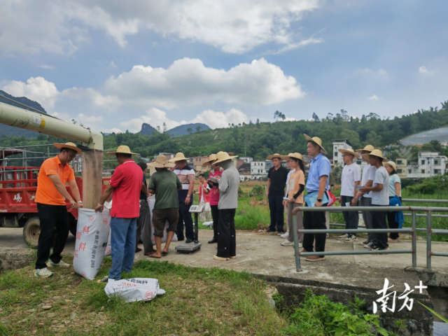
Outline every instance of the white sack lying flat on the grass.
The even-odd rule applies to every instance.
[[[106,295],[114,295],[122,298],[126,302],[149,301],[156,295],[165,294],[165,290],[160,289],[158,279],[132,278],[110,281],[104,288]]]

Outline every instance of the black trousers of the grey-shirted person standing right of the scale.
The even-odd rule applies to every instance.
[[[218,252],[216,255],[229,258],[237,255],[237,232],[235,232],[235,212],[237,209],[219,210]]]

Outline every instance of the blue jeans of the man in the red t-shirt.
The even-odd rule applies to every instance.
[[[111,218],[112,267],[109,279],[120,280],[121,272],[134,265],[137,218]]]

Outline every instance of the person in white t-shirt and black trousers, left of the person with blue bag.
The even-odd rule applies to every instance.
[[[379,149],[374,149],[368,156],[370,165],[376,167],[372,187],[361,188],[361,192],[368,193],[372,191],[373,207],[388,207],[389,205],[389,174],[383,166],[383,162],[388,162],[383,158],[383,153]],[[372,211],[372,223],[374,229],[386,229],[386,211]],[[388,250],[387,233],[375,233],[374,244],[370,248],[372,251]]]

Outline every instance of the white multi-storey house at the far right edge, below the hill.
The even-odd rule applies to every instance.
[[[419,152],[417,162],[411,162],[407,166],[407,177],[409,179],[419,179],[436,175],[443,175],[447,172],[448,158],[439,153],[430,151]]]

